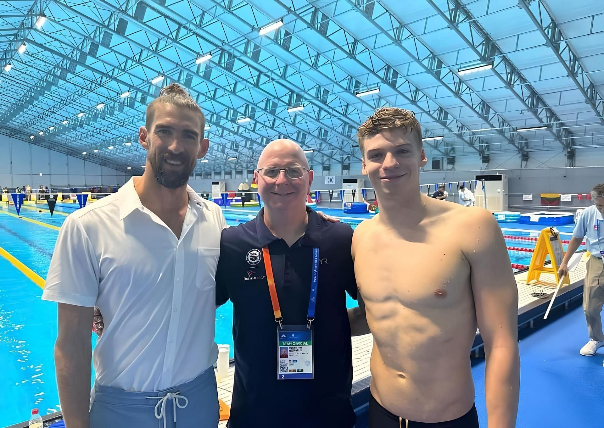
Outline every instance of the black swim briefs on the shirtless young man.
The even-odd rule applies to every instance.
[[[476,406],[460,418],[447,422],[414,422],[388,412],[373,395],[369,397],[369,428],[479,428]]]

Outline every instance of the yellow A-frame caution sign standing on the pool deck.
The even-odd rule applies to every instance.
[[[551,264],[548,267],[545,266],[545,259],[547,256],[550,257],[551,261]],[[541,234],[539,234],[535,252],[533,252],[533,257],[528,266],[527,284],[532,283],[532,281],[538,281],[541,273],[551,273],[554,275],[554,278],[556,278],[554,283],[541,283],[539,286],[556,288],[557,283],[560,282],[558,267],[562,264],[563,259],[564,249],[562,248],[560,234],[555,228],[543,229]],[[568,276],[569,275],[564,276],[562,284],[570,285]]]

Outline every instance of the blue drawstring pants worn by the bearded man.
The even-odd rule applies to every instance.
[[[163,391],[131,392],[94,385],[90,428],[216,428],[214,368]]]

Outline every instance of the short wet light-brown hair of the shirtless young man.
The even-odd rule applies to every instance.
[[[361,153],[365,153],[365,139],[381,133],[384,129],[392,128],[406,128],[409,129],[408,132],[415,131],[420,148],[422,147],[422,126],[417,121],[414,112],[399,107],[381,107],[359,126],[357,136]]]

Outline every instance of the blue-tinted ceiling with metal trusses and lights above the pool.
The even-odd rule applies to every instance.
[[[602,46],[602,0],[0,1],[0,133],[134,172],[146,105],[178,82],[207,118],[200,172],[283,136],[317,168],[358,162],[381,106],[413,110],[448,165],[571,166],[604,144]]]

